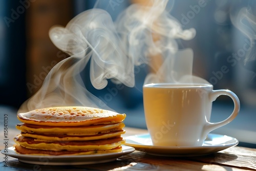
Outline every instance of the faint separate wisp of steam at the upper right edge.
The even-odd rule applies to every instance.
[[[256,12],[256,11],[255,11]],[[256,16],[252,8],[244,7],[237,14],[230,15],[232,24],[238,28],[250,41],[250,47],[245,57],[245,64],[256,60]]]

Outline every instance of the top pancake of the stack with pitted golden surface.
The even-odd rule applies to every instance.
[[[85,106],[61,106],[17,114],[18,120],[36,125],[80,126],[122,122],[125,114]]]

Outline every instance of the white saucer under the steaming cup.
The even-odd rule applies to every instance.
[[[125,145],[156,156],[190,157],[203,156],[236,146],[239,141],[226,135],[208,134],[203,146],[154,146],[149,134],[125,137]]]

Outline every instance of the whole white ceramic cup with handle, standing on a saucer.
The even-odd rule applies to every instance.
[[[232,114],[211,123],[211,106],[218,96],[234,102]],[[152,83],[143,86],[145,120],[153,145],[201,146],[207,134],[232,121],[240,101],[229,90],[213,90],[211,84]]]

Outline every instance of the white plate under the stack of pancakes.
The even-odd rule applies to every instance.
[[[102,154],[102,155],[76,155],[76,156],[39,156],[39,155],[22,155],[14,151],[14,147],[8,148],[8,156],[17,158],[18,161],[29,164],[41,165],[80,165],[96,164],[115,161],[118,157],[132,153],[134,147],[122,145],[122,152]],[[1,151],[4,153],[4,149]]]

